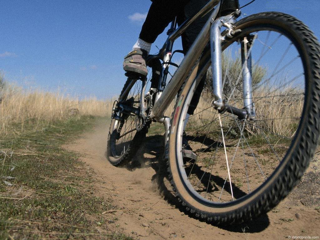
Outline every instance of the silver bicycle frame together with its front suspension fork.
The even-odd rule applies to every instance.
[[[233,35],[237,31],[234,31],[232,28],[232,24],[236,22],[236,18],[240,16],[240,11],[220,17],[218,19],[218,13],[220,11],[221,0],[211,0],[208,4],[206,4],[195,16],[191,19],[186,20],[184,23],[180,25],[179,28],[176,28],[176,19],[172,21],[171,29],[168,31],[168,38],[163,48],[160,50],[160,53],[156,55],[156,58],[159,56],[163,56],[163,64],[162,64],[162,72],[159,78],[158,89],[153,89],[150,91],[156,93],[155,103],[152,108],[151,114],[148,116],[149,120],[153,120],[156,122],[164,123],[166,133],[169,131],[170,126],[170,118],[164,116],[164,112],[169,106],[170,102],[174,99],[176,94],[178,93],[181,85],[191,77],[189,73],[196,73],[199,67],[199,62],[196,61],[199,59],[202,54],[207,42],[210,38],[211,43],[211,62],[212,62],[212,83],[213,83],[213,95],[214,101],[213,106],[220,111],[227,111],[238,116],[240,119],[250,118],[253,119],[254,114],[254,106],[252,103],[252,84],[251,84],[251,49],[247,51],[248,41],[246,37],[242,42],[242,74],[243,74],[243,94],[244,94],[244,108],[238,109],[232,106],[228,106],[224,103],[222,99],[223,95],[223,86],[222,86],[222,64],[221,64],[221,44],[224,43],[224,40],[227,38],[232,38]],[[166,85],[166,78],[168,75],[167,68],[171,64],[171,56],[172,56],[172,46],[174,41],[182,35],[182,33],[188,28],[188,26],[198,19],[201,16],[204,16],[208,12],[210,12],[214,8],[211,13],[209,19],[205,23],[201,32],[197,36],[194,43],[191,45],[189,51],[183,58],[179,68],[176,70],[174,76],[172,76],[171,81]],[[224,36],[221,36],[221,27],[224,26],[227,28],[227,33]],[[167,64],[166,64],[167,63]],[[202,73],[203,74],[203,73]],[[197,74],[193,74],[192,80],[197,77]],[[122,97],[126,95],[127,91],[131,89],[131,86],[135,83],[136,80],[132,80],[132,83],[129,84],[127,89],[124,91],[123,95],[120,98],[120,102]],[[140,95],[140,116],[143,119],[146,119],[147,107],[145,106],[145,90],[146,85],[145,81],[143,81],[143,86]],[[156,90],[156,91],[155,91]],[[149,92],[150,93],[150,92]],[[149,94],[150,95],[150,94]],[[138,109],[127,109],[129,112],[136,112]],[[137,114],[137,113],[135,113]]]

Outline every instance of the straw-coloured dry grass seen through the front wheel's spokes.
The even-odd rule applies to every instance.
[[[271,91],[265,88],[260,89],[259,94],[254,94],[253,99],[257,121],[248,122],[246,132],[260,134],[263,130],[265,134],[272,133],[291,138],[298,127],[303,108],[304,95],[301,90],[286,88],[282,91]],[[210,107],[212,106],[212,100],[210,93],[202,93],[195,114],[189,118],[187,125],[189,130],[196,129],[196,132],[201,133],[202,128],[200,126],[205,126],[203,128],[204,132],[219,131],[218,112]],[[242,100],[231,100],[229,104],[237,108],[243,108]],[[222,119],[222,124],[227,128],[230,125],[235,125],[233,118]],[[212,123],[209,124],[210,122]],[[235,128],[237,129],[237,126]]]

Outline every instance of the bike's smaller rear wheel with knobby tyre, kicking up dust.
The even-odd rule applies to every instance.
[[[115,102],[111,120],[107,158],[113,165],[129,161],[145,138],[150,122],[143,122],[140,114],[140,94],[146,79],[128,78],[118,101]],[[135,109],[136,113],[133,113]]]

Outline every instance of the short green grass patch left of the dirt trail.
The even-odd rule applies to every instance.
[[[1,136],[0,239],[132,239],[103,230],[101,213],[115,207],[94,195],[93,172],[79,155],[61,148],[96,121],[74,117]]]

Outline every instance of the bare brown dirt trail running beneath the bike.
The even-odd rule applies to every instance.
[[[276,209],[252,222],[220,228],[195,220],[175,207],[162,164],[163,139],[149,136],[132,164],[114,167],[104,156],[108,123],[98,124],[66,148],[83,154],[97,175],[95,194],[112,200],[109,228],[137,239],[285,239],[319,236],[319,155],[300,186]],[[160,166],[160,167],[159,167]],[[162,168],[161,168],[162,166]],[[312,186],[310,192],[308,187]]]

